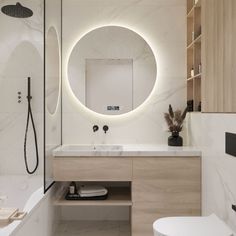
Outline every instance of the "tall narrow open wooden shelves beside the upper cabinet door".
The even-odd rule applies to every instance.
[[[202,78],[201,0],[187,0],[187,101],[200,111]]]

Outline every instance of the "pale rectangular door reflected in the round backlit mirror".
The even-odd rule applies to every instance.
[[[117,115],[133,109],[133,60],[86,60],[86,107]]]

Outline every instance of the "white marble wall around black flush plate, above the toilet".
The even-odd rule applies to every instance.
[[[202,150],[203,215],[215,213],[236,232],[236,157],[225,154],[225,132],[236,133],[235,114],[189,117],[190,144]]]

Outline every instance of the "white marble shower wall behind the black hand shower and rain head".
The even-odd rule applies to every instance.
[[[0,1],[4,5],[12,0]],[[32,77],[32,109],[38,136],[40,168],[43,160],[43,1],[22,0],[33,17],[19,19],[0,13],[0,174],[25,174],[23,144],[27,118],[27,80]],[[18,103],[17,92],[22,92]],[[28,158],[35,163],[33,133],[29,132]]]

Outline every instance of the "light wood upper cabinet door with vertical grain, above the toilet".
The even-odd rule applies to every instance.
[[[202,0],[202,111],[236,112],[236,1]]]

